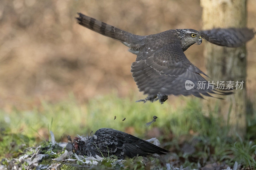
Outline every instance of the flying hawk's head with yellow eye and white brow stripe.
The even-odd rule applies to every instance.
[[[202,42],[201,33],[194,29],[177,29],[176,33],[181,40],[183,51],[195,43],[200,45]]]

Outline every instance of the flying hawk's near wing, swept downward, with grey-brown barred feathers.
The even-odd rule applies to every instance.
[[[147,50],[148,48],[145,47],[144,51]],[[208,81],[200,75],[204,73],[190,63],[180,44],[168,44],[151,53],[141,50],[138,57],[141,60],[132,63],[131,72],[138,88],[144,94],[155,95],[158,92],[165,95],[192,94],[202,98],[200,94],[210,96],[208,93],[216,92],[211,87],[207,89]],[[194,83],[194,88],[186,90],[187,80]],[[200,82],[205,83],[205,88],[197,89],[197,86],[201,87]],[[230,92],[221,92],[221,94],[230,94]]]

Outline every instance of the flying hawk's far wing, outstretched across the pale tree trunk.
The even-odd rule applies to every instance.
[[[205,40],[227,47],[240,47],[246,41],[254,37],[254,32],[249,28],[217,28],[212,30],[200,31]]]

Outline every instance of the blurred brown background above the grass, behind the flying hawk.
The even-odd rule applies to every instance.
[[[256,1],[248,0],[248,27],[256,28]],[[87,101],[114,91],[138,92],[131,77],[136,55],[118,41],[76,24],[76,12],[125,31],[148,35],[168,29],[200,30],[199,0],[1,0],[0,107],[28,108],[74,93]],[[216,16],[218,17],[218,16]],[[255,100],[256,39],[247,43],[247,91]],[[204,43],[185,54],[205,71]]]

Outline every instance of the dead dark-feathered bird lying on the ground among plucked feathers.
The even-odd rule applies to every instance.
[[[68,137],[67,151],[93,157],[116,155],[124,159],[169,152],[138,137],[110,128],[101,128],[93,136],[75,137],[73,143],[70,140]]]

